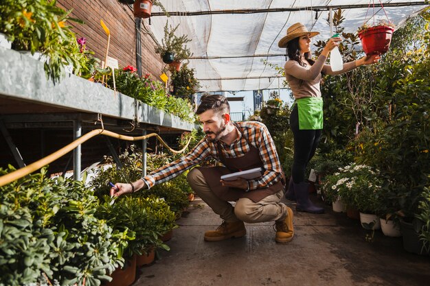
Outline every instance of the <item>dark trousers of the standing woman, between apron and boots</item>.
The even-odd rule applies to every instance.
[[[322,130],[299,130],[297,104],[294,105],[293,111],[291,111],[290,126],[294,136],[294,163],[291,175],[293,176],[293,182],[299,184],[304,182],[306,165],[315,155]]]

